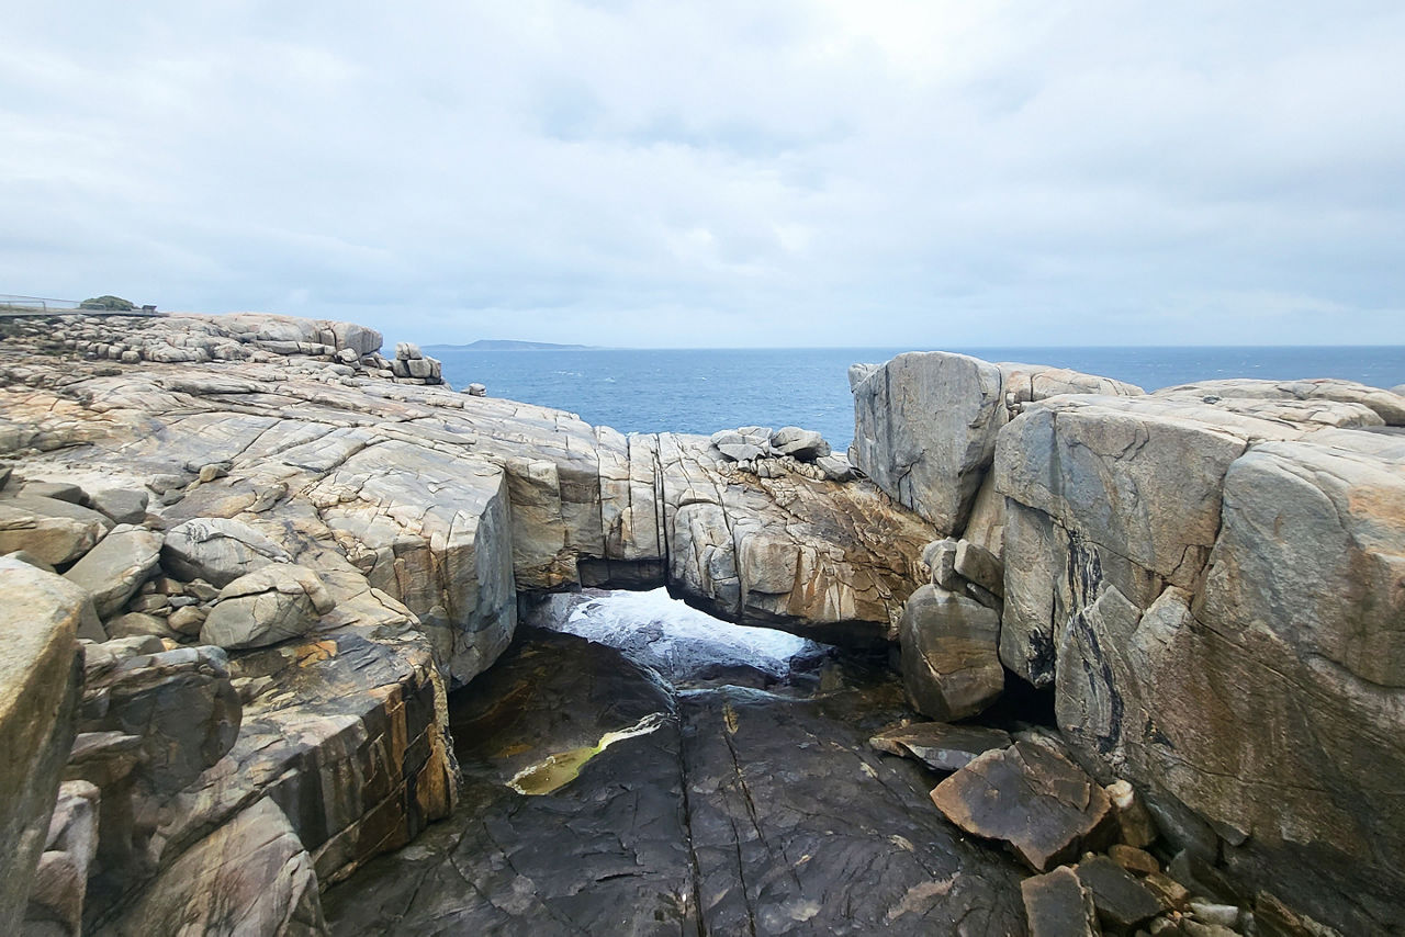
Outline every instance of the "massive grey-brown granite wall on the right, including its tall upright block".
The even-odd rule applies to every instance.
[[[856,464],[954,534],[927,552],[936,587],[975,594],[955,548],[991,549],[999,657],[1052,690],[1086,767],[1142,789],[1172,841],[1250,896],[1388,930],[1405,916],[1405,399],[1220,381],[1000,407],[1005,368],[902,355],[856,385],[861,431],[880,427]],[[912,648],[924,663],[905,669],[960,686]]]

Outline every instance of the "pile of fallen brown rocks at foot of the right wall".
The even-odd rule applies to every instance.
[[[1033,937],[1335,933],[1266,893],[1242,900],[1205,857],[1168,853],[1132,785],[1099,785],[1052,733],[923,722],[870,745],[944,774],[937,809],[1035,872],[1020,886]]]

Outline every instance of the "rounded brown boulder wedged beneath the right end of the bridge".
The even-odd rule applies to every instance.
[[[908,598],[902,612],[902,677],[919,712],[965,719],[1005,688],[999,657],[1000,615],[934,586]]]

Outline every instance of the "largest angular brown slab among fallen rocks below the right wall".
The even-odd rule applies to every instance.
[[[1096,848],[1111,834],[1103,788],[1033,742],[986,752],[939,784],[932,799],[968,833],[1007,841],[1035,871]]]

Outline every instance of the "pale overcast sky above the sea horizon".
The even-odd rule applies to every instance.
[[[1398,0],[4,7],[0,292],[426,344],[1405,344]]]

